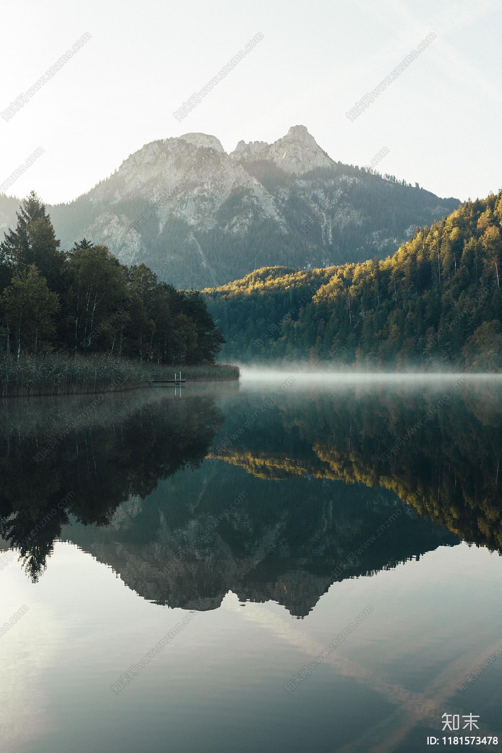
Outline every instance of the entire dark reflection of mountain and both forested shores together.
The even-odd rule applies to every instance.
[[[470,384],[385,463],[382,451],[434,406],[439,387],[291,390],[240,434],[266,393],[214,389],[114,395],[102,413],[86,413],[85,396],[5,410],[0,535],[33,578],[63,538],[160,604],[211,609],[233,590],[303,616],[333,581],[459,538],[500,549],[493,386]],[[224,437],[233,439],[221,452]]]

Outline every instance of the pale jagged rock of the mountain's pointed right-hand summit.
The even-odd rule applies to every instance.
[[[310,135],[305,126],[292,126],[286,136],[273,144],[266,142],[240,141],[230,159],[236,162],[269,160],[280,167],[287,175],[303,175],[316,167],[334,167],[335,163],[327,156]]]

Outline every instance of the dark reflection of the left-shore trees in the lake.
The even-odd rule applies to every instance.
[[[131,495],[145,498],[159,479],[196,468],[222,421],[203,395],[141,391],[90,404],[84,395],[2,405],[0,535],[33,580],[68,516],[107,525]]]

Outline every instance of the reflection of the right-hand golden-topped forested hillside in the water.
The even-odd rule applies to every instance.
[[[287,407],[269,411],[219,457],[260,477],[312,475],[391,489],[421,516],[502,551],[502,385],[471,378],[434,413],[454,381],[421,389],[347,387],[303,401],[286,395]],[[284,450],[265,447],[265,437],[278,431]],[[399,437],[403,444],[382,461]]]

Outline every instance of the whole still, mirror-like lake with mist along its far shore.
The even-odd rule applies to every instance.
[[[462,374],[4,401],[2,751],[497,748],[501,440]]]

